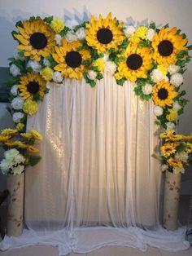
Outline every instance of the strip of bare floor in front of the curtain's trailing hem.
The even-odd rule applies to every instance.
[[[11,249],[6,252],[0,252],[1,256],[58,256],[58,249],[50,246],[28,246],[21,249]],[[190,249],[171,253],[160,249],[149,248],[146,253],[138,249],[120,246],[107,246],[96,249],[89,254],[70,254],[70,256],[191,256]]]

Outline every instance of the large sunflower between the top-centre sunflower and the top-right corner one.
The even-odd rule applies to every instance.
[[[124,55],[119,56],[123,61],[117,68],[116,79],[126,77],[131,82],[135,82],[137,78],[146,78],[147,71],[152,65],[152,55],[150,48],[138,47],[137,44],[129,44]]]

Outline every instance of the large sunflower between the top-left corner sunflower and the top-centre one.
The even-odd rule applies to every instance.
[[[55,46],[56,53],[53,58],[58,65],[54,69],[60,71],[63,77],[81,79],[83,73],[88,70],[83,61],[91,60],[91,55],[87,50],[78,50],[80,46],[80,41],[67,42],[65,39],[63,46]]]

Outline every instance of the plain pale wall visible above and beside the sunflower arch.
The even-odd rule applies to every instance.
[[[15,29],[16,21],[30,15],[55,15],[65,20],[76,18],[81,22],[88,20],[90,14],[107,15],[109,11],[127,24],[155,21],[159,25],[169,23],[171,27],[177,26],[186,33],[192,44],[192,0],[0,0],[0,67],[8,65],[7,58],[14,52],[11,30]],[[183,89],[187,92],[187,98],[192,99],[192,63],[184,78]],[[2,106],[0,108],[2,110]],[[4,121],[1,118],[3,125]],[[192,132],[192,100],[180,117],[178,130]],[[189,184],[184,187],[189,187]]]

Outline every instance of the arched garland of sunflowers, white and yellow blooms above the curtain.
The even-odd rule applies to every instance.
[[[187,100],[181,90],[182,74],[190,61],[187,39],[180,29],[157,29],[132,25],[111,17],[111,13],[77,24],[76,20],[53,16],[15,24],[12,35],[19,50],[10,58],[10,112],[17,129],[25,130],[27,115],[37,112],[38,101],[48,93],[46,82],[62,83],[65,77],[82,79],[90,86],[111,73],[116,83],[133,82],[141,99],[152,99],[156,124],[175,129],[177,116]]]

